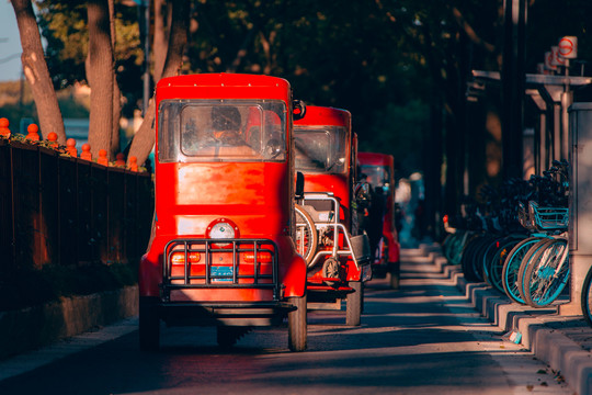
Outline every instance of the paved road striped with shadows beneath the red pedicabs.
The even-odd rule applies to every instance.
[[[255,330],[227,351],[213,329],[166,328],[162,351],[146,354],[132,319],[0,362],[0,394],[573,393],[434,266],[408,258],[402,269],[400,291],[368,284],[358,328],[340,312],[311,313],[307,352],[287,351],[285,328]]]

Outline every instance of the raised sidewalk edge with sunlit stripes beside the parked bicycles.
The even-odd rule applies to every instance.
[[[560,316],[557,305],[540,309],[520,305],[487,283],[466,281],[460,267],[448,264],[442,256],[440,245],[401,250],[402,261],[412,261],[413,257],[429,258],[482,316],[506,334],[508,340],[532,351],[577,394],[592,394],[592,328],[583,317]]]

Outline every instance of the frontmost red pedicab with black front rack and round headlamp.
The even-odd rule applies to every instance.
[[[289,83],[255,75],[171,77],[158,82],[156,105],[140,348],[159,347],[161,320],[216,326],[218,343],[231,346],[250,328],[287,317],[289,348],[305,350],[306,262],[292,238]]]

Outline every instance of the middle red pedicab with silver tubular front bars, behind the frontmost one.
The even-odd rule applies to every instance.
[[[296,170],[305,176],[296,213],[298,247],[308,264],[308,308],[341,309],[345,300],[346,324],[360,325],[363,282],[372,270],[367,236],[357,226],[351,115],[309,105],[294,123],[294,137]]]

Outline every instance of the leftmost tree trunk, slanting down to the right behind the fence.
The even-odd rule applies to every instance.
[[[39,116],[39,128],[44,137],[55,132],[58,135],[58,143],[66,145],[64,119],[45,63],[39,29],[31,0],[12,0],[11,2],[16,15],[16,24],[19,25],[23,47],[23,54],[21,55],[23,72],[33,91],[35,106]]]

